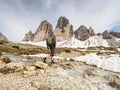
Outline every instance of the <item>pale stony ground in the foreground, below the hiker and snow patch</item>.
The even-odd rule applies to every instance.
[[[0,90],[120,90],[120,73],[72,60],[56,59],[49,65],[49,58],[45,64],[40,57],[2,54],[14,65],[7,72],[0,69]]]

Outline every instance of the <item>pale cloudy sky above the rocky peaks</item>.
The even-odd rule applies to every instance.
[[[43,20],[55,28],[60,16],[74,30],[85,25],[95,32],[120,32],[120,0],[0,0],[0,32],[10,41],[21,41],[29,30],[34,33]]]

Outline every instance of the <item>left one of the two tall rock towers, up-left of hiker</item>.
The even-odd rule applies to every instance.
[[[47,20],[44,20],[36,30],[33,41],[43,41],[50,35],[51,32],[53,32],[52,25]]]

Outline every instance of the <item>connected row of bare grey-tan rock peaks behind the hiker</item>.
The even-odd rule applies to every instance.
[[[23,41],[34,41],[39,42],[45,40],[51,32],[56,35],[57,41],[67,40],[73,36],[76,39],[85,41],[94,35],[102,35],[103,39],[110,39],[112,36],[120,38],[120,33],[104,31],[102,34],[96,34],[92,27],[87,29],[86,26],[81,25],[77,30],[73,30],[73,26],[70,24],[66,17],[60,17],[57,21],[55,30],[53,31],[53,26],[47,20],[41,22],[36,32],[33,34],[31,31],[25,34]]]

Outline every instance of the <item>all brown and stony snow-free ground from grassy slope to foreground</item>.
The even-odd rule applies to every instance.
[[[101,58],[119,55],[112,48],[57,48],[52,65],[50,58],[43,63],[48,51],[42,47],[5,43],[0,51],[0,90],[120,90],[119,72],[73,59],[89,53]]]

